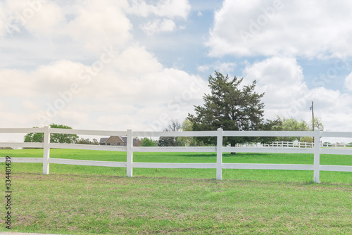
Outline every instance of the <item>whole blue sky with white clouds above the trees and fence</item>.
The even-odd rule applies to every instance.
[[[352,132],[351,11],[348,0],[0,0],[0,128],[160,131],[194,113],[216,70],[256,80],[265,119],[310,122],[313,101],[325,131]]]

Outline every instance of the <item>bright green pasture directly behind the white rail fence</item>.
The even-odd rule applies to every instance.
[[[42,158],[42,149],[0,150],[0,156]],[[51,149],[51,158],[125,162],[125,152]],[[133,153],[134,162],[143,163],[216,163],[216,153]],[[223,163],[313,164],[313,154],[224,153]],[[320,155],[322,165],[352,165],[352,155]],[[13,172],[41,173],[41,163],[14,163]],[[125,167],[94,167],[50,164],[51,174],[89,174],[126,176]],[[134,176],[215,179],[215,169],[134,168]],[[223,179],[268,182],[312,182],[312,171],[298,170],[222,170]],[[351,172],[320,172],[320,182],[352,184]]]

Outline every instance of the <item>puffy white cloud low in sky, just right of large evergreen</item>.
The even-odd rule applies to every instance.
[[[308,89],[296,59],[274,57],[248,64],[243,75],[247,83],[257,80],[257,92],[265,92],[265,118],[284,115],[309,121],[314,101],[315,116],[322,118],[325,130],[352,130],[352,96],[323,87]]]

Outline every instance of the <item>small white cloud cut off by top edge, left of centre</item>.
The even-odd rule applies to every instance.
[[[147,17],[151,14],[168,17],[186,19],[191,5],[188,0],[158,0],[156,4],[148,4],[143,0],[132,0],[132,6],[129,8],[130,13]]]

